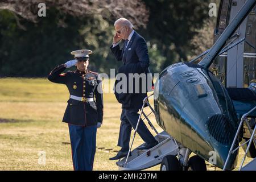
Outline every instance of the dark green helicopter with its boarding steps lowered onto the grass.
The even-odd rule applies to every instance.
[[[245,150],[240,169],[256,170],[255,159],[242,167],[246,156],[256,156],[255,5],[256,0],[221,0],[212,48],[159,74],[154,93],[144,98],[129,153],[116,163],[120,170],[161,164],[162,171],[205,171],[205,161],[232,170],[240,147]],[[144,113],[146,106],[161,133],[148,118],[151,113]],[[159,144],[131,150],[142,115]]]

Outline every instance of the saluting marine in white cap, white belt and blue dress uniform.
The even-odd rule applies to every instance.
[[[96,131],[102,124],[103,94],[98,73],[88,71],[87,49],[72,51],[75,60],[67,61],[51,71],[48,80],[65,84],[69,90],[63,122],[68,123],[74,170],[91,171],[96,152]],[[76,71],[65,71],[76,65]]]

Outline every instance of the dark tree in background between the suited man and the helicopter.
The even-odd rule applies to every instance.
[[[161,55],[166,57],[162,68],[177,61],[186,61],[191,49],[191,39],[208,18],[209,1],[144,0],[150,11],[143,35],[151,44],[157,44]]]

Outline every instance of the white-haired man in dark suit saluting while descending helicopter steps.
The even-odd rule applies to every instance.
[[[149,57],[147,51],[147,44],[144,38],[133,30],[133,24],[125,18],[120,18],[114,23],[116,34],[113,38],[113,45],[110,47],[115,59],[123,61],[123,65],[119,68],[118,73],[124,73],[126,76],[129,73],[138,73],[139,75],[149,73]],[[120,49],[119,42],[125,40],[123,48]],[[129,86],[130,79],[127,80],[127,86]],[[116,86],[116,84],[115,84]],[[131,86],[131,85],[130,85]],[[121,114],[121,126],[119,131],[118,146],[122,147],[116,156],[110,158],[110,160],[117,160],[127,156],[129,151],[129,142],[131,127],[135,129],[137,126],[139,114],[138,111],[143,105],[143,100],[147,97],[147,87],[139,82],[139,88],[132,89],[132,91],[138,89],[138,93],[117,93],[115,88],[115,96],[118,102],[122,104]],[[128,88],[128,90],[130,90]],[[144,92],[143,92],[144,90]],[[158,142],[153,135],[147,129],[146,125],[141,120],[137,130],[138,134],[144,140],[145,145],[141,150],[154,147]]]

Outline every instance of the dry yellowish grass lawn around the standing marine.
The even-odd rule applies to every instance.
[[[1,78],[0,88],[0,119],[10,120],[0,123],[0,170],[73,170],[68,126],[61,122],[69,98],[66,86],[44,78]],[[114,94],[104,94],[94,170],[118,170],[109,158],[119,150],[120,114]],[[161,131],[153,115],[150,119]],[[137,135],[134,146],[141,143]],[[39,151],[46,152],[45,166],[38,163]],[[240,150],[240,158],[242,154]],[[159,165],[148,170],[159,170]]]

